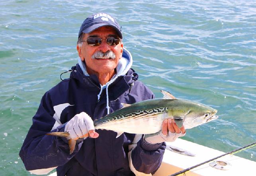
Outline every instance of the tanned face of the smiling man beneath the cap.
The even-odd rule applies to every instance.
[[[76,47],[78,55],[81,60],[86,62],[86,70],[89,74],[107,74],[113,73],[116,68],[119,59],[123,53],[123,43],[117,44],[116,46],[109,46],[105,39],[102,39],[100,46],[90,46],[86,42],[89,37],[113,37],[117,34],[112,27],[100,27],[91,33],[86,33],[83,36],[83,43],[81,47]],[[93,59],[92,55],[97,51],[107,52],[108,50],[115,53],[115,59]]]

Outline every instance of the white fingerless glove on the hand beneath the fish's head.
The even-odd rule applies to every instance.
[[[182,137],[186,135],[186,132],[184,134],[180,133],[171,133],[168,132],[168,135],[164,135],[162,133],[162,130],[160,132],[154,133],[154,134],[146,134],[144,137],[144,140],[147,143],[156,144],[156,143],[162,143],[162,142],[173,142],[178,137]]]

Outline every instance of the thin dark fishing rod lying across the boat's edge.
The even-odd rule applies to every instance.
[[[231,152],[224,153],[223,155],[220,155],[219,157],[215,157],[215,158],[210,159],[210,160],[207,160],[207,161],[205,161],[205,162],[201,162],[200,164],[197,164],[197,165],[195,165],[195,166],[186,168],[186,169],[184,169],[184,170],[181,170],[181,171],[176,172],[176,173],[174,173],[174,174],[172,174],[172,175],[169,175],[169,176],[177,176],[177,175],[180,175],[180,174],[185,174],[185,172],[188,172],[188,171],[192,170],[193,168],[196,168],[196,167],[198,167],[198,166],[201,166],[201,165],[203,165],[203,164],[205,164],[205,163],[207,163],[207,162],[210,162],[210,161],[213,161],[213,160],[215,160],[215,159],[221,158],[221,157],[223,157],[223,156],[225,156],[225,155],[234,154],[234,153],[236,153],[236,151],[240,151],[240,150],[243,151],[243,150],[249,149],[249,148],[254,147],[254,146],[256,146],[256,142],[251,143],[251,144],[249,144],[249,145],[246,145],[246,146],[244,146],[244,147],[241,147],[241,148],[239,148],[239,149],[235,149],[235,150],[233,150],[233,151],[231,151]]]

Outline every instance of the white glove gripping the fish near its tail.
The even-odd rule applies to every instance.
[[[68,132],[71,139],[83,138],[86,133],[94,129],[92,118],[85,112],[76,114],[66,123],[65,132]]]

